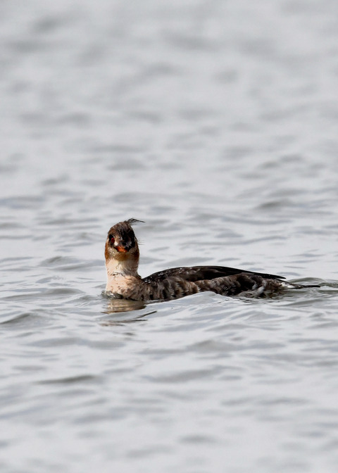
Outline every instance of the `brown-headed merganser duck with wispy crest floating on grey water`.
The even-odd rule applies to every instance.
[[[106,259],[106,294],[131,301],[170,301],[199,292],[211,291],[222,296],[266,297],[286,289],[318,287],[294,284],[283,276],[240,270],[225,266],[172,267],[139,276],[139,245],[132,225],[142,220],[130,218],[108,231]]]

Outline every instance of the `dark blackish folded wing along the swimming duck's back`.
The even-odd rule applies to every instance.
[[[225,266],[190,266],[190,267],[172,267],[169,270],[154,272],[152,275],[143,278],[144,282],[160,282],[168,277],[180,277],[185,281],[202,281],[206,279],[215,279],[216,277],[239,275],[245,272],[250,275],[258,275],[268,279],[285,279],[283,276],[270,275],[263,272],[253,272],[239,270],[234,267]]]

